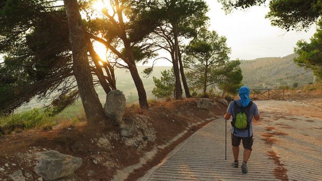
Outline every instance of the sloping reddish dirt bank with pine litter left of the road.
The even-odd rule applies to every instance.
[[[32,130],[23,133],[7,135],[0,137],[0,165],[9,163],[11,169],[6,172],[0,172],[1,178],[7,178],[14,170],[24,168],[29,171],[37,179],[37,174],[33,171],[35,162],[33,153],[46,150],[57,150],[63,154],[69,154],[83,158],[83,165],[72,175],[76,180],[110,180],[117,169],[122,169],[129,165],[139,162],[139,158],[145,152],[150,151],[157,145],[163,145],[169,142],[179,133],[186,130],[189,124],[204,122],[205,119],[214,117],[214,115],[222,116],[226,107],[216,101],[218,104],[213,110],[198,110],[198,99],[185,99],[180,101],[170,101],[154,103],[147,110],[138,110],[128,108],[124,115],[124,122],[134,124],[139,116],[147,116],[148,126],[154,128],[156,139],[154,141],[147,140],[146,146],[138,149],[134,146],[127,146],[123,139],[109,139],[112,148],[102,148],[93,143],[102,135],[115,133],[119,135],[120,130],[115,126],[103,127],[101,124],[88,125],[81,122],[76,126],[68,126],[68,128],[54,128],[53,130]],[[137,174],[131,175],[131,178],[137,178],[140,173],[155,165],[158,160],[167,155],[176,145],[188,138],[193,131],[200,128],[191,128],[181,139],[157,153],[155,159],[149,161],[142,169],[137,170]],[[31,159],[26,159],[31,158]],[[101,158],[98,164],[93,160]],[[104,165],[104,162],[111,164]],[[11,166],[11,163],[17,163],[17,166]],[[19,164],[18,164],[19,163]],[[92,170],[92,173],[89,173]]]

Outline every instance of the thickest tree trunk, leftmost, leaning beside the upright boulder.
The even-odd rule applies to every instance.
[[[83,35],[83,23],[78,10],[77,0],[64,0],[68,20],[69,40],[71,42],[73,72],[79,94],[89,122],[106,119],[102,104],[94,89],[93,77],[87,55],[87,44]]]

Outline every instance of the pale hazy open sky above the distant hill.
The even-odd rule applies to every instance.
[[[210,9],[207,14],[210,18],[210,30],[227,38],[227,44],[231,47],[230,59],[283,57],[293,53],[299,39],[309,40],[315,32],[315,26],[312,26],[308,32],[289,31],[285,34],[285,30],[271,26],[270,20],[265,19],[269,11],[265,6],[236,10],[225,15],[221,4],[216,0],[205,1]],[[159,61],[156,65],[171,64]]]

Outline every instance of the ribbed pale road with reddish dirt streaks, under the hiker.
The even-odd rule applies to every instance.
[[[262,118],[254,122],[248,174],[231,167],[229,136],[224,160],[224,121],[218,119],[179,145],[140,180],[321,180],[321,102],[256,101]]]

